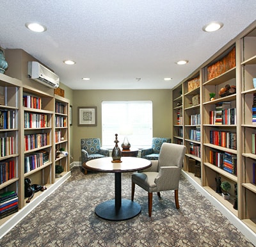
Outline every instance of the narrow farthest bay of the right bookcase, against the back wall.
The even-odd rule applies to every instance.
[[[183,144],[183,95],[182,84],[173,89],[173,143]]]

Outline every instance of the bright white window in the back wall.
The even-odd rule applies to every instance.
[[[103,101],[102,146],[113,148],[118,134],[121,148],[125,137],[122,129],[132,129],[132,134],[127,136],[131,147],[151,147],[152,101]]]

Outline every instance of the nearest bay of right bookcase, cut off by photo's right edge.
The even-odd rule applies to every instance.
[[[255,184],[255,105],[256,88],[256,29],[241,39],[241,219],[256,232],[256,184]]]

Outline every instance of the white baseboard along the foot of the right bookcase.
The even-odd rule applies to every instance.
[[[237,218],[232,212],[230,212],[222,203],[220,203],[214,196],[208,193],[204,187],[200,186],[195,180],[193,180],[188,173],[182,170],[182,175],[200,192],[205,198],[207,198],[228,220],[256,246],[256,234],[247,225]]]

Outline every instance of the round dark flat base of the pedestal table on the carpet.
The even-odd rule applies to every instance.
[[[140,214],[140,212],[141,206],[128,199],[122,199],[122,205],[118,210],[115,209],[115,199],[102,202],[95,208],[97,216],[113,221],[131,219]]]

